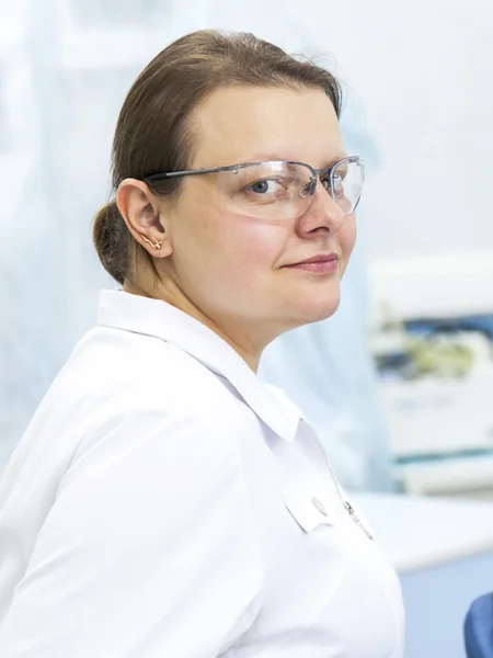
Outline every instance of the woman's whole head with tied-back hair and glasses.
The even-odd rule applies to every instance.
[[[94,225],[103,265],[253,342],[330,316],[355,241],[360,172],[354,161],[329,177],[313,171],[346,157],[340,111],[331,73],[253,35],[203,31],[174,42],[118,118],[117,195]],[[227,169],[152,177],[203,168]],[[333,193],[346,173],[355,198],[342,203]],[[337,262],[289,266],[318,254]]]

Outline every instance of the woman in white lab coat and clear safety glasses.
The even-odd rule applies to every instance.
[[[397,577],[262,350],[332,315],[363,166],[325,70],[197,32],[123,105],[94,241],[123,291],[0,491],[0,656],[399,658]]]

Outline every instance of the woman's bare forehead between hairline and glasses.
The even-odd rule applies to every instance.
[[[345,156],[334,107],[318,89],[223,87],[193,124],[193,167],[282,159],[319,168]]]

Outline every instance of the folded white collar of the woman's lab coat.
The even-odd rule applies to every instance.
[[[249,407],[276,434],[293,443],[300,415],[267,388],[243,359],[211,329],[160,299],[124,291],[102,291],[98,325],[173,343],[227,378]]]

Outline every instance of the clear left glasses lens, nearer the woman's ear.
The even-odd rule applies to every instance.
[[[219,196],[225,206],[259,219],[291,219],[311,203],[305,194],[312,184],[308,167],[290,162],[242,164],[218,173]]]

